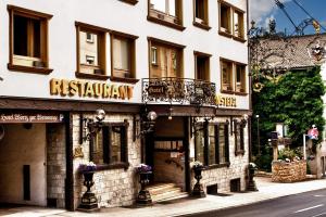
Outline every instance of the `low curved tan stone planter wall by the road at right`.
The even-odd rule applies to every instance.
[[[272,163],[272,181],[273,182],[293,182],[305,179],[306,162],[277,162]]]

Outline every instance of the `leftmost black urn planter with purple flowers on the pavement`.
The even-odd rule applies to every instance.
[[[82,203],[78,207],[80,210],[95,210],[98,209],[98,200],[90,191],[90,188],[95,184],[92,180],[93,174],[97,170],[97,165],[93,162],[85,162],[79,164],[78,171],[84,175],[84,186],[87,188],[86,192],[83,194]]]

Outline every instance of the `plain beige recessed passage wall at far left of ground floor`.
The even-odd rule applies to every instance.
[[[4,125],[0,174],[0,203],[47,205],[46,124]]]

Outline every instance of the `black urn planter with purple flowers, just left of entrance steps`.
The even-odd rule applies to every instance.
[[[149,183],[149,176],[152,174],[152,167],[146,164],[139,164],[136,168],[136,174],[139,175],[140,191],[137,195],[137,203],[141,205],[152,204],[151,194],[145,187]]]

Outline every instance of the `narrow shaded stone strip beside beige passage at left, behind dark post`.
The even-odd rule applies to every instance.
[[[49,205],[65,207],[65,127],[47,125],[47,197]],[[52,200],[52,201],[51,201]]]

